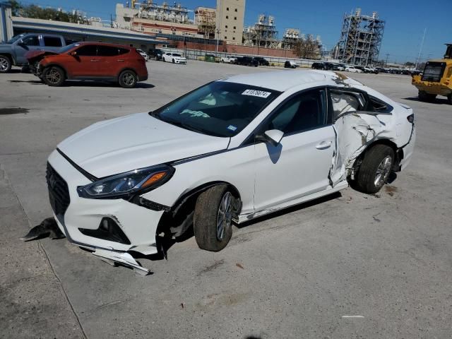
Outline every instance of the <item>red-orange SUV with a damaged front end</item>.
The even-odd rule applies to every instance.
[[[148,78],[146,61],[133,47],[100,42],[76,42],[46,53],[35,74],[49,86],[59,86],[65,80],[102,80],[133,88]],[[28,57],[35,64],[39,56]]]

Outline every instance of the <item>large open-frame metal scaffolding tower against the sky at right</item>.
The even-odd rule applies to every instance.
[[[361,8],[345,14],[338,43],[338,58],[347,64],[371,65],[378,61],[385,21],[376,12],[362,16]]]

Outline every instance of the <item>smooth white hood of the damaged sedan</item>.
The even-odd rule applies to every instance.
[[[223,150],[229,141],[138,113],[93,124],[58,148],[85,171],[102,178]]]

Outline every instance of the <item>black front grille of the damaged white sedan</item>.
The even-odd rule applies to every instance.
[[[52,210],[57,215],[58,220],[62,223],[64,221],[64,213],[71,203],[69,198],[68,184],[55,171],[55,169],[47,162],[47,172],[45,175],[47,180],[47,188],[49,189],[49,201]]]

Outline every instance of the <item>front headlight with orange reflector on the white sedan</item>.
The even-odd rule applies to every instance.
[[[174,174],[174,168],[157,165],[134,169],[113,175],[97,182],[77,188],[81,198],[126,198],[133,194],[143,194],[165,184]]]

